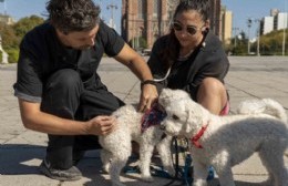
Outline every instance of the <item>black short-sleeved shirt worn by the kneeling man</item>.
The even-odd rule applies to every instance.
[[[45,81],[61,69],[79,72],[84,85],[103,86],[96,70],[106,53],[116,55],[124,40],[105,23],[100,22],[95,45],[75,50],[60,43],[55,29],[45,22],[31,30],[22,40],[14,84],[16,96],[30,102],[41,102]]]

